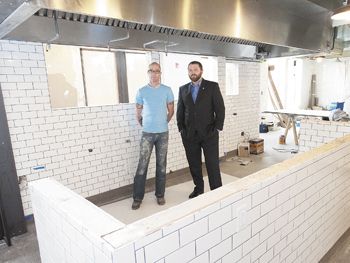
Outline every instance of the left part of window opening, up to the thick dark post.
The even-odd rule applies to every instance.
[[[116,53],[75,46],[46,46],[52,108],[111,105],[120,101]]]

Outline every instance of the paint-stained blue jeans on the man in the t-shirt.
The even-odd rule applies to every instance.
[[[140,159],[134,177],[134,200],[142,201],[145,195],[147,170],[153,146],[156,148],[156,197],[164,197],[168,138],[168,132],[142,132]]]

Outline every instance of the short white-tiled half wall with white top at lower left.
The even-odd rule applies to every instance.
[[[112,262],[114,249],[102,236],[125,224],[54,180],[29,185],[42,262]],[[116,257],[128,252],[123,247]]]

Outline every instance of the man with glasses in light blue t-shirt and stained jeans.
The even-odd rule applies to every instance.
[[[168,152],[168,122],[174,115],[174,94],[171,88],[160,83],[160,65],[149,65],[150,82],[136,94],[136,118],[142,126],[140,158],[134,177],[132,209],[140,208],[145,194],[147,168],[153,146],[156,148],[156,197],[159,205],[165,204],[165,174]]]

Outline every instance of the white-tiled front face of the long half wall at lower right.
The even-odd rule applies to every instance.
[[[164,246],[165,242],[166,246],[178,248],[170,255],[188,251],[193,260],[190,262],[199,262],[198,258],[202,262],[318,262],[350,226],[349,141],[348,137],[346,145],[340,142],[337,149],[328,150],[326,154],[311,153],[309,156],[316,157],[311,157],[312,161],[306,166],[299,164],[299,170],[274,175],[276,182],[255,189],[246,197],[249,200],[245,203],[248,210],[243,228],[237,222],[242,220],[240,212],[237,213],[244,204],[242,198],[226,203],[198,221],[188,221],[188,226],[182,224],[182,229],[178,230],[179,248],[177,242],[175,246],[167,242],[170,236],[166,232],[158,241],[145,244],[145,249],[156,244]],[[295,164],[303,157],[298,158]],[[288,169],[288,165],[280,167]],[[269,169],[265,173],[268,174]],[[270,170],[273,174],[273,169]],[[235,182],[235,185],[240,183]],[[234,188],[233,185],[224,186],[228,187]],[[255,185],[251,187],[256,188]],[[249,189],[244,191],[249,192]],[[301,202],[297,201],[300,194],[304,196]],[[250,207],[257,196],[262,196],[263,201]],[[227,209],[232,210],[231,215],[226,213]],[[230,217],[228,222],[227,216]],[[217,223],[213,225],[211,219],[216,219]],[[172,233],[172,238],[174,235]],[[164,257],[165,262],[170,255]],[[178,262],[188,261],[188,258],[181,259]],[[146,257],[145,262],[152,261]]]

